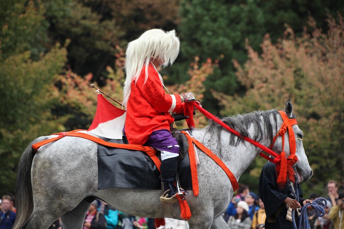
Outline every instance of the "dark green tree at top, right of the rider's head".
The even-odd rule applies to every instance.
[[[220,107],[213,99],[210,89],[226,94],[245,93],[235,78],[232,59],[243,64],[247,58],[245,40],[258,52],[259,44],[266,33],[277,41],[288,24],[298,35],[307,24],[311,13],[315,20],[325,24],[326,9],[344,13],[343,1],[211,1],[182,0],[180,5],[181,22],[178,27],[182,42],[181,56],[174,64],[173,79],[183,82],[183,72],[194,56],[200,61],[206,58],[219,60],[219,68],[205,82],[204,105],[209,111],[218,114]],[[323,28],[327,29],[326,26]]]

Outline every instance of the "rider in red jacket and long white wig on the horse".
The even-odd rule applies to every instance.
[[[125,65],[125,134],[129,144],[148,145],[161,151],[160,171],[165,193],[160,200],[166,204],[175,202],[178,194],[174,179],[179,145],[170,131],[174,122],[171,112],[182,113],[183,102],[194,100],[194,96],[191,92],[166,94],[157,68],[172,65],[179,46],[174,30],[148,30],[128,44]]]

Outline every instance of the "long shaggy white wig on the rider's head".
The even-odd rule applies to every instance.
[[[148,65],[152,59],[164,59],[163,67],[173,64],[174,60],[179,54],[180,41],[176,36],[175,31],[171,30],[165,32],[161,29],[152,29],[144,32],[136,40],[129,42],[126,53],[126,81],[123,89],[123,106],[128,103],[129,95],[131,92],[131,83],[137,82],[141,70],[145,67],[146,78],[148,78]],[[160,76],[162,85],[163,80]]]

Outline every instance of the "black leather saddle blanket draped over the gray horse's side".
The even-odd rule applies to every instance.
[[[128,144],[126,138],[101,139]],[[178,175],[181,187],[192,190],[189,154],[178,163]],[[98,190],[111,187],[161,190],[160,180],[158,168],[146,153],[98,144]]]

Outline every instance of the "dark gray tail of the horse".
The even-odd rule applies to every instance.
[[[21,229],[25,221],[31,216],[33,211],[33,195],[31,185],[31,166],[34,156],[32,145],[47,139],[40,137],[35,139],[23,152],[19,165],[17,181],[15,182],[14,196],[17,207],[17,216],[12,229]]]

